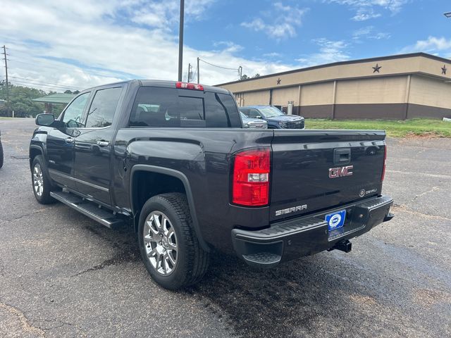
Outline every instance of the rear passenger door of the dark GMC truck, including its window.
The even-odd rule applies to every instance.
[[[75,139],[74,171],[78,192],[111,205],[111,141],[123,87],[98,89]]]

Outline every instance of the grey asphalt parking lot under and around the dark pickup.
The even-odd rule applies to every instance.
[[[252,270],[217,256],[168,292],[131,230],[112,231],[30,183],[34,120],[0,120],[1,337],[450,337],[451,139],[389,139],[396,218],[323,252]]]

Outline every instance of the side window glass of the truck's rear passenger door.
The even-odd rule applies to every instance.
[[[89,107],[87,128],[108,127],[113,123],[121,92],[122,87],[101,89],[96,92]]]

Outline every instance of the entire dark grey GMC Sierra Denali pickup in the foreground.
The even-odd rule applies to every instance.
[[[393,218],[383,131],[243,129],[227,90],[152,80],[87,89],[36,123],[37,201],[132,225],[168,289],[197,282],[214,250],[269,268],[350,251]]]

